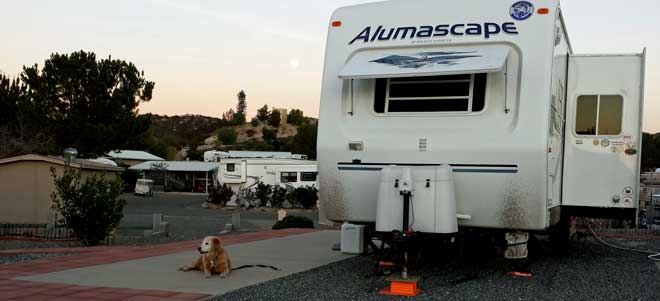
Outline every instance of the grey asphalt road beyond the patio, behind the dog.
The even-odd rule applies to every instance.
[[[149,244],[217,235],[227,223],[231,223],[231,212],[235,212],[202,208],[205,194],[156,193],[153,197],[125,194],[122,198],[127,203],[119,226],[118,244]],[[169,223],[170,237],[141,237],[144,230],[151,229],[154,213],[163,214],[164,220]],[[306,216],[318,224],[316,211],[295,210],[290,214]],[[276,219],[277,213],[272,210],[242,211],[239,231],[270,229]]]

